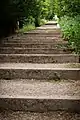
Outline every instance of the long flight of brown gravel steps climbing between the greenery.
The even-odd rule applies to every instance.
[[[79,56],[56,22],[0,44],[0,120],[80,120]]]

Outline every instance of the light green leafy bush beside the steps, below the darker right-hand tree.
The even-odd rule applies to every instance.
[[[80,15],[75,17],[64,16],[60,19],[63,38],[69,40],[72,48],[80,54]]]

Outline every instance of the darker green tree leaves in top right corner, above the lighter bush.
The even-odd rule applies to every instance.
[[[55,13],[61,17],[64,15],[75,16],[80,14],[80,0],[54,0]]]

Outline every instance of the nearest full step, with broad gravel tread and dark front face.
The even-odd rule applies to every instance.
[[[2,110],[80,112],[80,81],[0,80]]]

